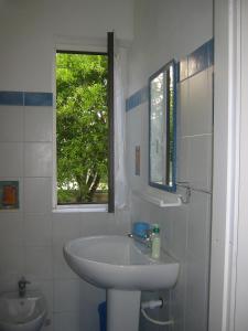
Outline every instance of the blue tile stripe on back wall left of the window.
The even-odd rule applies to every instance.
[[[1,106],[53,106],[53,94],[46,92],[0,90]]]

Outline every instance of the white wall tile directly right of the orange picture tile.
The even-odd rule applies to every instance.
[[[25,213],[47,213],[52,210],[52,178],[24,179]]]

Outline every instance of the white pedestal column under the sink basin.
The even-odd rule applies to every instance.
[[[138,331],[141,291],[107,290],[107,331]]]

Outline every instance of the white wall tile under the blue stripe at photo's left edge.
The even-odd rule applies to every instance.
[[[0,141],[23,141],[22,106],[0,106]]]

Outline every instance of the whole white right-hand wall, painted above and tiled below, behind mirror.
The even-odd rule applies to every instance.
[[[212,1],[137,1],[134,42],[129,54],[129,95],[172,58],[182,60],[213,38]],[[191,203],[159,209],[132,201],[132,221],[160,223],[162,247],[181,264],[171,292],[170,316],[177,331],[207,330],[212,211],[213,67],[177,84],[177,180],[195,189]],[[140,145],[141,175],[134,175],[134,147]],[[148,103],[127,113],[129,184],[148,183]],[[208,191],[204,193],[202,191]],[[185,193],[177,189],[179,193]],[[158,297],[158,293],[154,293]],[[163,311],[157,316],[166,318]],[[141,330],[160,330],[141,319]]]

